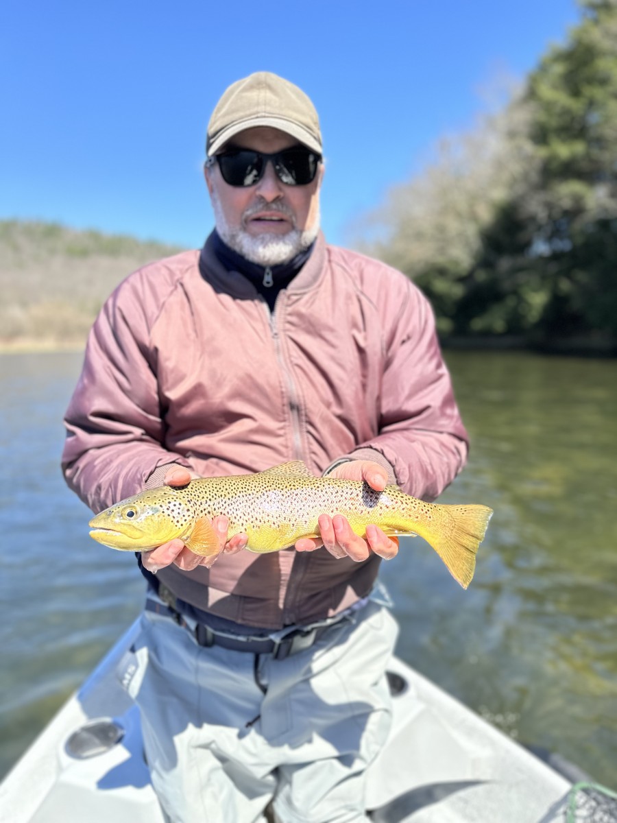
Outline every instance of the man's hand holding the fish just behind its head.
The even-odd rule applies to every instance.
[[[186,486],[196,477],[198,477],[198,475],[189,472],[187,468],[174,466],[165,474],[165,485]],[[151,551],[142,551],[142,565],[153,574],[156,574],[159,569],[163,569],[172,563],[184,571],[197,569],[198,565],[206,566],[206,569],[209,569],[221,552],[233,555],[238,551],[242,551],[248,543],[248,535],[244,534],[244,532],[234,534],[230,540],[227,539],[230,521],[224,514],[219,514],[216,518],[213,518],[212,526],[214,527],[216,536],[219,538],[220,548],[219,551],[216,552],[216,555],[209,557],[196,555],[183,544],[179,537],[176,537],[174,540],[163,543],[162,546],[157,546]]]

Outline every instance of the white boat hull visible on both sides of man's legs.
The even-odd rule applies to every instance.
[[[137,705],[115,677],[137,633],[138,621],[7,774],[0,820],[164,823]],[[398,658],[388,681],[392,731],[368,776],[373,823],[617,821],[617,795],[541,760]]]

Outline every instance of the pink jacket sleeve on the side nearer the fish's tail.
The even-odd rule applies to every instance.
[[[394,322],[384,339],[378,435],[359,444],[353,457],[373,449],[392,466],[408,494],[434,500],[466,463],[468,438],[435,331],[429,301],[405,278],[405,295],[392,290],[386,314]],[[397,310],[392,296],[400,301]]]

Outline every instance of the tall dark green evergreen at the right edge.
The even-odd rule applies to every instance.
[[[540,157],[532,249],[550,264],[547,331],[617,335],[617,0],[582,22],[527,84]]]

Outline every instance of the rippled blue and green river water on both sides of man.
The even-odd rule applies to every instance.
[[[382,578],[398,653],[519,741],[617,785],[617,362],[449,352],[472,440],[443,502],[494,510],[465,592],[420,538]],[[0,774],[137,616],[58,462],[75,354],[0,357]]]

